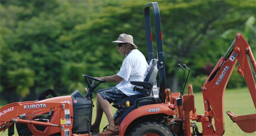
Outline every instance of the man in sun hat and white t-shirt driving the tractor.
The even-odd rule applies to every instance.
[[[144,55],[137,49],[131,35],[120,34],[119,38],[113,42],[117,43],[116,48],[120,54],[125,55],[125,59],[117,74],[107,77],[96,77],[97,79],[109,82],[120,82],[115,87],[102,89],[97,92],[96,119],[91,126],[91,132],[99,132],[103,112],[106,114],[109,123],[108,128],[104,132],[98,133],[98,136],[118,135],[119,132],[116,130],[110,104],[118,99],[140,94],[137,91],[133,91],[134,85],[131,85],[130,82],[143,81],[148,68]]]

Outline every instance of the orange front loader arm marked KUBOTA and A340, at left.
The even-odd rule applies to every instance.
[[[60,124],[53,125],[51,122],[37,122],[33,120],[20,119],[19,116],[24,116],[26,113],[32,113],[38,110],[52,109],[52,111],[59,111],[59,116],[65,118],[64,109],[69,108],[68,103],[60,102],[15,102],[0,108],[0,132],[6,130],[13,122],[55,126],[61,127]]]

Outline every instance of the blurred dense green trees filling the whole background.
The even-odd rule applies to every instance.
[[[116,74],[124,59],[111,41],[134,36],[147,57],[144,5],[148,0],[1,0],[1,102],[34,100],[47,88],[58,94],[82,90],[82,74]],[[256,50],[256,1],[159,0],[167,87],[177,90],[191,70],[189,83],[200,91],[212,67],[240,32]],[[154,28],[152,28],[154,30]],[[255,55],[255,54],[254,54]],[[100,85],[107,88],[115,83]],[[229,88],[245,86],[233,72]],[[9,95],[10,99],[5,99]],[[29,96],[29,97],[28,97]],[[17,99],[20,98],[20,99]]]

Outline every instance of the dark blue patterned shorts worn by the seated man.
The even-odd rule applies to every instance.
[[[102,98],[107,100],[109,103],[128,97],[126,94],[124,94],[116,87],[102,89],[99,90],[97,93],[99,93],[102,96]]]

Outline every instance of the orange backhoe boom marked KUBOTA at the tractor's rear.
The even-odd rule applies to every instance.
[[[230,53],[226,56],[226,54],[230,50],[229,49],[227,53],[224,55],[224,57],[221,57],[221,59],[215,66],[214,70],[208,77],[207,81],[201,87],[201,91],[203,92],[204,98],[205,116],[198,116],[199,118],[204,118],[199,119],[198,122],[201,122],[203,125],[203,135],[224,134],[224,92],[227,86],[227,82],[230,79],[230,76],[233,72],[233,69],[237,61],[239,61],[239,67],[237,72],[246,80],[251,97],[253,99],[254,106],[256,107],[255,79],[253,77],[252,69],[250,67],[250,62],[248,61],[247,56],[250,58],[254,73],[256,71],[255,59],[253,57],[249,44],[241,34],[236,34],[236,40],[234,42],[235,46],[233,50],[230,51]],[[253,116],[256,116],[256,114],[251,115],[249,117],[250,119],[248,120],[254,122],[255,119],[251,119],[253,118]],[[215,130],[212,127],[212,118],[214,119],[215,122]],[[251,127],[253,127],[253,125],[254,132],[256,129],[256,123],[252,124]]]

